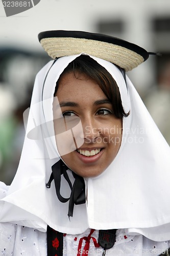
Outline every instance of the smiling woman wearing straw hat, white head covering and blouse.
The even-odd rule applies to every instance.
[[[55,61],[36,77],[17,174],[2,184],[2,253],[167,254],[169,146],[125,74],[149,53],[85,32],[39,39]]]

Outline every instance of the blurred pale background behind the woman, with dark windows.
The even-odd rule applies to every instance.
[[[0,3],[0,180],[10,184],[17,170],[37,72],[50,60],[38,41],[46,30],[83,30],[120,37],[150,56],[128,72],[138,93],[170,144],[170,1],[41,0],[6,17]],[[158,145],[159,147],[159,145]]]

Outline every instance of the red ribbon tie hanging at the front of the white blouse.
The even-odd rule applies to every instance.
[[[88,256],[88,251],[89,251],[89,246],[90,246],[90,239],[92,239],[94,246],[95,247],[100,247],[100,245],[98,244],[98,242],[96,241],[95,238],[91,237],[91,234],[94,232],[95,229],[91,229],[88,237],[83,237],[79,240],[79,245],[78,245],[78,250],[77,250],[77,256]],[[86,241],[84,249],[82,250],[82,243],[83,240]]]

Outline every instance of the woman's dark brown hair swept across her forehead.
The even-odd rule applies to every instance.
[[[123,116],[127,117],[129,115],[129,113],[125,113],[124,111],[117,83],[111,74],[94,59],[87,55],[80,55],[69,63],[60,77],[69,72],[74,72],[76,78],[78,78],[78,74],[85,74],[91,80],[95,81],[110,100],[114,115],[117,118],[123,118]],[[56,82],[54,95],[57,93],[59,81],[60,78]]]

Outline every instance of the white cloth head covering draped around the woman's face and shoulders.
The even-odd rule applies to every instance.
[[[80,54],[61,57],[53,66],[53,61],[50,61],[36,76],[23,151],[8,195],[0,201],[0,221],[41,231],[46,231],[46,226],[50,225],[60,232],[71,234],[82,233],[88,227],[125,228],[127,233],[143,234],[151,240],[170,240],[169,146],[129,78],[126,77],[126,87],[122,73],[106,60],[90,56],[113,76],[125,112],[130,111],[130,115],[123,118],[123,139],[119,152],[105,172],[85,179],[88,204],[76,205],[70,221],[67,216],[68,202],[58,200],[54,182],[50,189],[46,188],[51,166],[60,159],[54,137],[47,138],[44,143],[42,139],[29,139],[27,135],[35,125],[53,120],[56,81],[68,63],[78,56]],[[49,115],[46,115],[49,104],[46,109],[45,102],[50,102]],[[39,130],[41,136],[42,131]],[[68,172],[73,180],[71,172]],[[61,195],[70,195],[63,179]]]

